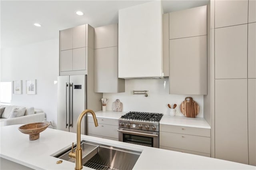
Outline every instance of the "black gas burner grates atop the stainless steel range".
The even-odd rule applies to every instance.
[[[134,119],[134,120],[142,120],[142,121],[160,121],[162,118],[162,113],[148,113],[148,112],[135,112],[130,111],[126,113],[121,118],[125,119]]]

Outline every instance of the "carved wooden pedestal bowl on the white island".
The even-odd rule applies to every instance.
[[[30,123],[19,127],[19,130],[24,134],[29,134],[29,140],[36,140],[39,138],[40,132],[44,131],[49,125],[49,122]]]

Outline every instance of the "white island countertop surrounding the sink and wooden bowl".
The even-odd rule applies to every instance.
[[[76,133],[47,128],[40,133],[37,140],[29,140],[27,134],[18,130],[21,125],[11,125],[1,127],[0,156],[7,160],[17,162],[33,169],[47,170],[72,170],[75,164],[63,160],[61,164],[56,164],[60,160],[51,155],[58,153],[63,148],[68,148],[71,143],[76,143]],[[129,144],[96,138],[93,136],[81,135],[81,140],[96,142],[119,148],[142,151],[133,169],[135,170],[172,170],[172,169],[241,169],[255,170],[255,166],[164,150],[151,148],[136,144]],[[127,160],[129,161],[129,160]],[[91,169],[84,167],[83,169]]]

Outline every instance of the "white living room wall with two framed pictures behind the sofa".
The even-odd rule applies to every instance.
[[[22,80],[22,95],[12,94],[12,105],[42,109],[48,121],[57,122],[59,40],[1,49],[1,81]],[[26,94],[26,80],[36,79],[36,95]]]

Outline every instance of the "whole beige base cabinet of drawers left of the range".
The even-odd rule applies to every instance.
[[[95,127],[92,117],[88,117],[88,135],[118,141],[118,120],[98,118],[98,127]]]

